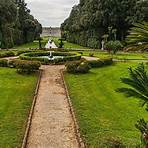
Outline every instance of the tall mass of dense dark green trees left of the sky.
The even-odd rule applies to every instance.
[[[24,0],[0,0],[0,47],[33,41],[42,32]]]

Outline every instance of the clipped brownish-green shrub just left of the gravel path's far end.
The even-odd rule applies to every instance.
[[[36,61],[15,60],[14,66],[16,67],[18,73],[30,74],[39,70],[41,64]]]

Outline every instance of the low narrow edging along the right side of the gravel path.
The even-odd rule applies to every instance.
[[[66,85],[66,82],[65,82],[65,79],[64,79],[64,70],[61,70],[61,76],[62,76],[62,81],[63,81],[65,92],[66,92],[69,110],[70,110],[70,113],[71,113],[71,116],[72,116],[72,119],[73,119],[73,122],[74,122],[74,130],[75,130],[77,142],[78,142],[80,148],[86,148],[86,144],[84,143],[84,141],[81,137],[81,134],[80,134],[80,127],[78,125],[78,122],[77,122],[77,119],[76,119],[76,116],[75,116],[75,112],[74,112],[74,109],[73,109],[73,105],[72,105],[72,102],[71,102],[71,99],[70,99],[69,91],[68,91],[68,88],[67,88],[67,85]]]

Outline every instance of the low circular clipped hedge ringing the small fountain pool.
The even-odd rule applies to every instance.
[[[31,60],[40,61],[42,64],[60,64],[67,61],[75,61],[81,59],[81,54],[76,52],[52,52],[52,56],[63,56],[57,59],[49,60],[46,57],[40,56],[50,56],[50,52],[29,52],[20,55],[21,60]]]

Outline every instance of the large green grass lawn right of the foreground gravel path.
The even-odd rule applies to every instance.
[[[90,147],[102,146],[110,138],[120,139],[130,148],[140,143],[134,125],[147,112],[137,99],[115,91],[125,85],[120,77],[127,76],[129,66],[135,63],[116,63],[84,75],[65,74],[81,134]]]

